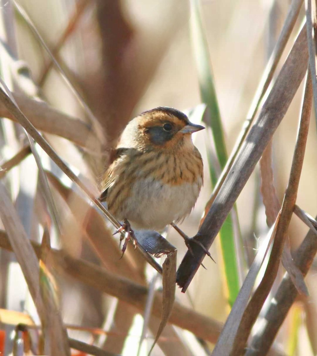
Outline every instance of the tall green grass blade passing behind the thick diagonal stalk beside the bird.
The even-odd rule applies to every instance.
[[[191,0],[191,34],[196,60],[198,81],[200,85],[201,99],[209,110],[210,120],[207,124],[211,127],[216,155],[221,169],[227,161],[227,151],[221,124],[220,110],[217,101],[215,85],[212,77],[210,57],[206,36],[203,30],[201,9],[199,0]],[[216,185],[216,177],[211,174],[213,186]],[[228,302],[232,305],[240,289],[239,274],[236,259],[235,240],[231,215],[228,215],[220,230],[221,252],[224,262],[226,287],[228,290]]]

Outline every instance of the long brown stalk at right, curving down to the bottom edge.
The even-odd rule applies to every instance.
[[[287,235],[288,226],[291,221],[294,206],[297,198],[297,190],[302,172],[305,155],[306,141],[308,135],[310,114],[312,105],[312,83],[310,77],[306,77],[305,93],[303,97],[300,126],[293,155],[290,178],[282,204],[281,216],[277,224],[275,240],[268,261],[268,265],[261,283],[253,294],[247,308],[242,316],[242,320],[237,331],[233,344],[232,355],[241,355],[244,352],[251,328],[255,323],[261,308],[270,293],[273,282],[276,278],[278,267],[282,256],[284,242]]]

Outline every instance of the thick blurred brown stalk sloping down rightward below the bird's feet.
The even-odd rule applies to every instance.
[[[40,245],[34,241],[31,244],[37,256],[40,256]],[[0,230],[0,247],[12,251],[7,234]],[[64,271],[77,281],[101,290],[104,293],[119,298],[123,302],[143,311],[146,303],[147,288],[134,283],[129,279],[115,276],[104,268],[93,263],[77,260],[67,256],[62,251],[51,249],[50,251],[54,267],[58,271]],[[162,305],[162,293],[157,292],[154,298],[152,314],[160,318]],[[174,303],[169,322],[187,329],[197,337],[215,343],[220,334],[222,324],[192,309],[186,308],[177,301]]]

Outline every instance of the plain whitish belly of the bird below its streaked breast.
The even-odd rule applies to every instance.
[[[180,221],[191,212],[201,186],[201,178],[194,184],[182,185],[162,185],[152,178],[138,180],[123,204],[125,216],[122,219],[128,219],[135,229],[163,230],[172,221]]]

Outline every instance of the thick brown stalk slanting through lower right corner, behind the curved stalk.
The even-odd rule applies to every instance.
[[[313,229],[308,231],[304,241],[294,254],[294,262],[303,273],[303,276],[306,276],[309,271],[316,253],[317,231]],[[263,316],[266,323],[252,337],[246,355],[264,356],[267,354],[297,296],[298,291],[292,283],[290,276],[286,273],[277,292],[272,297],[266,314]]]

